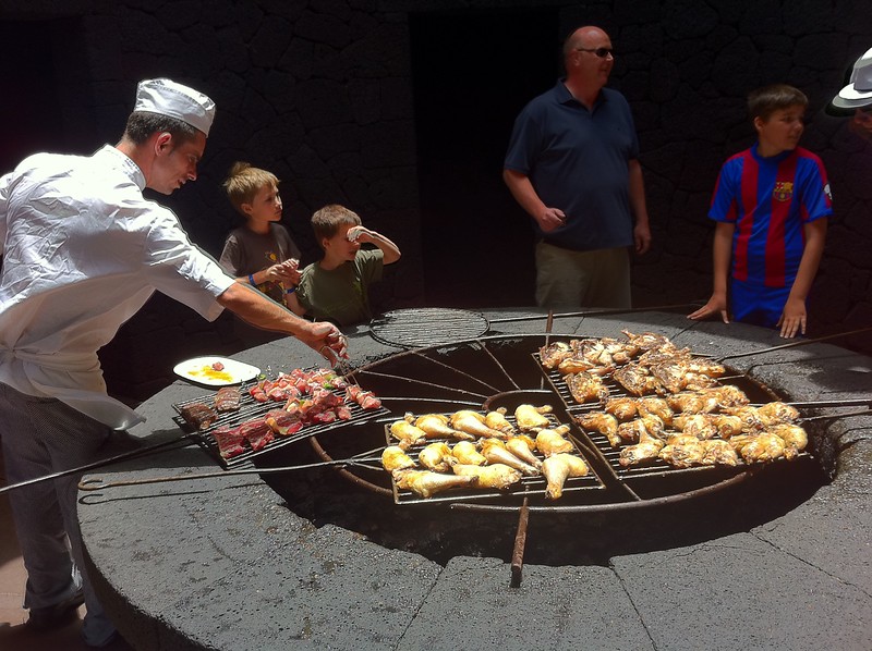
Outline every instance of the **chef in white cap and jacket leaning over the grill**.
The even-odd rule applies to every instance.
[[[0,440],[17,483],[98,458],[112,430],[143,420],[106,393],[97,351],[155,292],[214,320],[228,308],[329,360],[344,340],[227,275],[175,214],[146,200],[197,176],[215,103],[170,79],[141,82],[120,143],[89,157],[37,153],[0,177]],[[10,491],[28,626],[64,625],[86,604],[85,642],[117,636],[85,576],[78,476]],[[68,551],[69,548],[72,552]],[[72,554],[72,557],[71,557]]]

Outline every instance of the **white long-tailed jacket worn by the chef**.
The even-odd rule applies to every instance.
[[[116,429],[144,420],[106,393],[97,351],[157,290],[214,320],[233,279],[146,200],[124,153],[37,153],[0,179],[0,382]]]

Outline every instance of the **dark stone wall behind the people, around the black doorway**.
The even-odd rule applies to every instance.
[[[217,257],[238,223],[220,188],[227,170],[235,160],[270,169],[282,180],[283,222],[305,261],[318,255],[311,213],[327,202],[348,205],[403,251],[376,292],[376,306],[384,308],[421,304],[426,290],[410,12],[424,19],[448,12],[458,21],[493,15],[498,28],[500,16],[532,9],[554,11],[559,34],[549,42],[512,39],[505,48],[549,48],[557,60],[562,37],[592,23],[610,33],[619,52],[611,85],[628,97],[637,119],[654,234],[652,251],[635,262],[637,305],[707,297],[713,229],[704,216],[717,171],[752,142],[744,118],[748,90],[785,82],[809,96],[802,144],[823,158],[835,197],[810,300],[811,334],[872,324],[872,145],[849,133],[846,120],[823,112],[846,70],[872,47],[867,2],[3,0],[0,20],[36,29],[41,38],[31,47],[52,48],[51,83],[64,130],[58,149],[84,152],[114,143],[137,79],[190,83],[218,106],[201,176],[174,196],[155,198],[173,208],[191,238]],[[28,65],[26,52],[8,53],[13,54],[19,65]],[[482,57],[500,65],[499,51]],[[553,83],[537,79],[530,97]],[[492,146],[505,148],[508,135]],[[513,260],[508,255],[486,261],[498,270]],[[451,263],[467,266],[475,278],[483,262]],[[457,287],[458,296],[463,292]],[[532,295],[492,287],[476,300],[529,305]],[[865,335],[847,343],[872,349]],[[171,380],[175,361],[240,345],[229,318],[209,324],[155,297],[102,357],[110,389],[138,400]]]

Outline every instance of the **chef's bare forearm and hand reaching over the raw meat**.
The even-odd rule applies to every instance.
[[[336,326],[301,319],[254,287],[233,283],[217,300],[252,326],[295,336],[330,361],[337,356],[347,356],[346,340]]]

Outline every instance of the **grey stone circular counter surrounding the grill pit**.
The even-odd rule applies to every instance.
[[[535,311],[487,315],[492,334],[544,330]],[[751,327],[691,324],[657,312],[564,317],[554,332],[609,335],[623,328],[663,332],[715,356],[782,341]],[[397,351],[365,329],[350,337],[354,364]],[[290,340],[240,358],[274,371],[317,363]],[[767,374],[774,389],[802,400],[820,393],[816,378],[850,365],[855,374],[841,378],[836,393],[870,397],[862,380],[872,360],[834,346],[741,359],[743,370]],[[851,386],[851,379],[861,382]],[[143,406],[149,421],[132,433],[149,443],[178,437],[170,405],[202,394],[174,383]],[[872,427],[868,418],[827,423],[822,437],[836,440],[835,479],[787,512],[743,530],[701,531],[691,544],[645,549],[641,541],[638,553],[600,565],[525,565],[519,588],[509,587],[511,568],[497,557],[457,556],[443,567],[335,525],[317,527],[256,475],[82,492],[80,516],[95,585],[136,649],[860,651],[872,646]],[[92,477],[195,472],[220,474],[189,447]],[[719,504],[725,515],[752,506]],[[580,519],[578,530],[595,536],[595,520]]]

